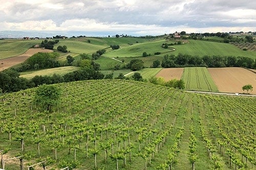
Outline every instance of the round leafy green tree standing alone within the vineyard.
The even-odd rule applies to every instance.
[[[54,85],[39,86],[34,95],[34,103],[41,109],[52,111],[60,101],[61,89]]]

